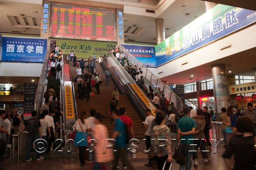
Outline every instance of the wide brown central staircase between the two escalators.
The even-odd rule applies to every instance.
[[[71,77],[74,80],[75,76],[77,76],[76,69],[77,67],[73,67],[73,63],[69,63],[69,67],[71,69]],[[79,99],[77,95],[77,83],[74,82],[75,89],[75,99],[77,103],[77,113],[80,115],[81,111],[86,111],[87,117],[90,117],[90,110],[96,109],[97,112],[104,115],[106,118],[103,119],[103,124],[107,126],[109,131],[109,137],[112,136],[113,133],[113,125],[111,123],[111,116],[108,115],[109,111],[109,103],[112,99],[112,92],[114,91],[115,84],[112,79],[109,79],[109,86],[105,83],[106,77],[105,73],[99,63],[96,63],[96,69],[99,72],[100,79],[103,81],[103,84],[100,85],[100,95],[96,94],[95,87],[92,87],[93,93],[95,96],[90,97],[90,102],[84,101],[83,99]],[[84,73],[88,73],[87,69],[84,69]],[[133,121],[133,131],[135,138],[143,138],[145,136],[145,128],[142,123],[143,118],[139,115],[135,107],[129,101],[129,98],[126,94],[120,94],[118,108],[124,107],[126,109],[127,116],[129,116]]]

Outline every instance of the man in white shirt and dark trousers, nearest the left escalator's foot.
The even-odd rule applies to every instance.
[[[51,147],[52,147],[52,142],[55,141],[55,139],[54,139],[55,126],[54,126],[53,117],[51,117],[51,116],[48,115],[49,111],[43,110],[43,113],[45,114],[44,119],[46,119],[46,120],[48,121],[49,127],[50,127],[50,134],[48,134],[48,131],[46,131],[46,132],[47,132],[47,137],[49,138],[49,141],[48,141],[48,148],[47,148],[46,153],[49,153],[49,152],[50,152],[50,149],[51,149]]]

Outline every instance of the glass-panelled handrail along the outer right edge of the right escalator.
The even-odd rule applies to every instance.
[[[152,86],[153,88],[156,89],[157,86],[160,87],[160,85],[161,85],[161,86],[163,86],[163,89],[160,89],[160,90],[163,90],[163,91],[166,92],[166,89],[167,89],[167,90],[169,91],[169,93],[165,93],[166,98],[169,98],[169,101],[170,101],[170,102],[175,103],[176,108],[177,108],[177,111],[181,111],[181,110],[182,110],[182,100],[181,100],[181,98],[178,97],[178,96],[177,96],[167,85],[165,85],[160,79],[158,79],[157,76],[155,76],[149,69],[147,69],[147,67],[145,67],[145,65],[143,65],[143,63],[141,63],[141,62],[140,62],[138,59],[136,59],[129,51],[127,51],[127,49],[125,49],[125,47],[123,47],[123,45],[120,45],[119,48],[121,49],[121,51],[124,51],[124,55],[126,56],[126,59],[127,59],[128,61],[130,61],[130,63],[131,63],[132,65],[133,65],[134,63],[136,63],[137,66],[138,66],[138,68],[139,68],[139,65],[141,65],[141,70],[146,69],[146,73],[145,73],[145,71],[143,71],[143,74],[145,75],[145,76],[144,76],[145,79],[147,79],[147,75],[150,75],[150,74],[151,74],[150,80],[147,80],[147,81],[151,84],[151,86]],[[131,58],[131,57],[132,57],[132,58]],[[129,58],[131,58],[131,60],[133,60],[133,62],[132,62],[131,60],[129,60]],[[156,85],[153,85],[153,83],[152,83],[152,76],[154,76],[154,77],[156,78],[156,81],[157,81]],[[173,94],[174,94],[174,96],[175,96],[174,101],[171,100]],[[167,95],[170,95],[170,97],[167,97]]]

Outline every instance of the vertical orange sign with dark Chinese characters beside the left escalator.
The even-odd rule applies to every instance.
[[[71,81],[65,82],[65,107],[66,107],[66,119],[74,119],[74,105],[72,96]]]

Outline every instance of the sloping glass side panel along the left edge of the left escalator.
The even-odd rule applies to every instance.
[[[44,57],[44,63],[42,65],[42,71],[39,77],[36,94],[35,94],[35,110],[38,115],[40,113],[40,107],[44,102],[44,92],[47,90],[47,77],[48,77],[48,62],[50,55],[50,41],[47,44],[47,51]]]

